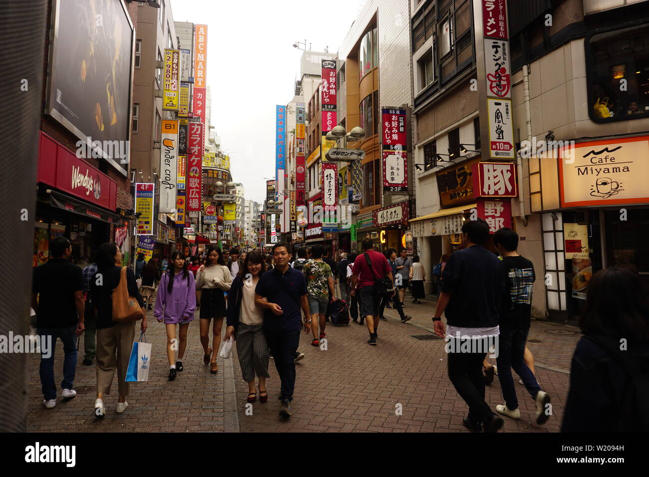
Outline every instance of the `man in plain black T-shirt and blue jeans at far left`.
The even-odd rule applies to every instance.
[[[32,280],[32,308],[36,312],[36,330],[49,356],[41,355],[40,380],[43,390],[43,406],[56,406],[56,383],[54,380],[54,351],[56,338],[63,343],[62,397],[73,398],[77,371],[77,335],[84,330],[84,281],[79,267],[69,260],[72,244],[65,237],[57,237],[49,243],[50,259],[36,267]]]

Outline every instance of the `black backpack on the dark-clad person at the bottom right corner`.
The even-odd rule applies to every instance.
[[[614,432],[646,432],[649,429],[649,365],[630,354],[628,350],[620,350],[620,342],[615,338],[585,336],[613,357],[626,371],[629,378],[626,389],[622,391],[619,404],[621,411]]]

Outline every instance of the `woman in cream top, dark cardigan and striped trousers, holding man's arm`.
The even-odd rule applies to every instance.
[[[241,374],[248,383],[248,402],[257,400],[254,376],[259,378],[259,400],[266,402],[268,374],[268,344],[263,334],[263,308],[254,303],[254,291],[266,266],[258,252],[250,252],[232,282],[228,295],[228,327],[225,339],[234,336]]]

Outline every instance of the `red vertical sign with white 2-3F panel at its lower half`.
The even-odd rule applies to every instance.
[[[383,190],[408,191],[408,134],[406,110],[382,108]]]

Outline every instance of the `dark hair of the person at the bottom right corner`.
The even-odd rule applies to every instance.
[[[623,268],[598,271],[588,282],[579,321],[583,334],[649,341],[649,300],[635,273]]]

